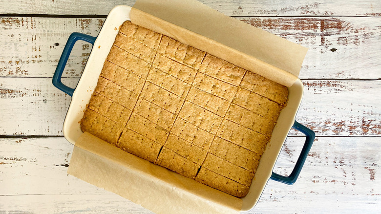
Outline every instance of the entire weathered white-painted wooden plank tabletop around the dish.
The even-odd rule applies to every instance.
[[[296,184],[269,181],[249,213],[378,213],[381,209],[381,2],[202,0],[309,48],[296,120],[317,138]],[[150,211],[66,173],[70,96],[52,75],[72,32],[97,36],[109,10],[133,0],[0,0],[0,213]],[[75,86],[91,46],[77,43],[63,82]],[[289,173],[303,136],[275,166]]]

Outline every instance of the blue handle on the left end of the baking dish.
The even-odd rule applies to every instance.
[[[67,59],[70,56],[70,52],[73,49],[74,44],[78,40],[82,40],[82,41],[94,44],[96,39],[97,39],[96,37],[92,37],[92,36],[89,36],[89,35],[86,35],[83,33],[72,33],[69,36],[69,39],[67,39],[66,45],[63,48],[63,52],[62,52],[60,61],[58,62],[56,71],[54,72],[54,75],[53,75],[53,81],[52,82],[53,82],[54,86],[56,86],[58,89],[62,90],[66,94],[73,96],[75,88],[65,86],[61,82],[62,73],[63,73],[63,70],[65,69]]]

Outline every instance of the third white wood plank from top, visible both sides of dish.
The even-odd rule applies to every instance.
[[[71,97],[51,78],[0,78],[1,135],[62,135]],[[75,86],[77,78],[64,78]],[[381,81],[303,81],[296,120],[319,136],[381,134]],[[291,135],[301,135],[291,131]]]

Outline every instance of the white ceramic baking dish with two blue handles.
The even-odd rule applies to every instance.
[[[72,96],[70,106],[63,122],[63,135],[72,144],[75,144],[77,139],[83,133],[78,122],[83,117],[84,109],[97,84],[103,64],[119,31],[119,26],[121,26],[123,22],[130,20],[130,10],[131,7],[126,5],[114,7],[108,14],[98,37],[91,37],[81,33],[72,33],[64,47],[63,54],[53,76],[53,85]],[[70,88],[62,84],[61,76],[72,47],[78,40],[91,43],[93,47],[78,85],[75,88]],[[267,145],[259,162],[250,191],[247,196],[241,198],[243,202],[241,211],[249,211],[254,208],[269,179],[286,184],[295,183],[315,139],[315,133],[312,130],[295,121],[296,112],[303,96],[302,82],[297,79],[294,85],[288,87],[288,90],[289,99],[287,101],[287,106],[279,115],[271,141]],[[272,170],[291,128],[295,128],[305,134],[306,140],[294,170],[289,176],[282,176],[274,173]]]

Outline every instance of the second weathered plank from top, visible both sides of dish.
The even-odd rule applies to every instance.
[[[381,78],[379,18],[239,18],[309,48],[300,79]],[[72,32],[98,35],[104,19],[0,18],[0,77],[52,77]],[[49,30],[47,30],[49,29]],[[63,77],[79,77],[91,44],[78,42]],[[363,68],[366,67],[366,70]]]

